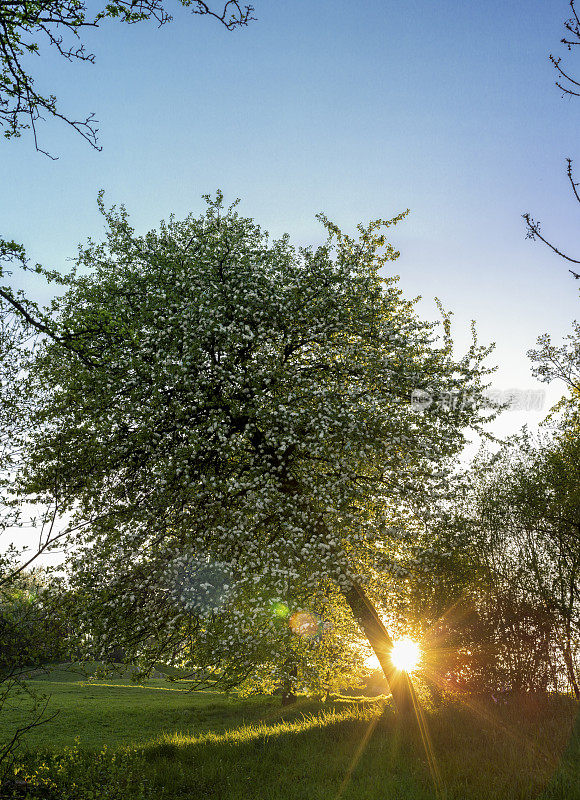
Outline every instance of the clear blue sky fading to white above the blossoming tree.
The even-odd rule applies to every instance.
[[[318,211],[352,230],[409,207],[392,236],[405,292],[428,317],[440,297],[460,345],[476,320],[497,343],[497,386],[533,386],[526,350],[578,316],[578,282],[521,219],[580,253],[564,172],[577,157],[580,175],[580,100],[561,98],[548,60],[562,53],[580,74],[559,44],[567,0],[255,3],[258,20],[232,33],[168,5],[160,30],[89,32],[94,66],[36,59],[38,88],[96,113],[103,151],[56,123],[39,128],[56,162],[27,136],[0,140],[3,235],[65,268],[100,236],[100,188],[144,231],[219,187],[297,244],[323,238]],[[511,412],[497,430],[540,416]]]

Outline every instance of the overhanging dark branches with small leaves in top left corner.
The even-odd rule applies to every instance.
[[[201,0],[179,0],[192,13],[214,17],[228,30],[247,25],[253,7],[226,0],[219,8]],[[63,113],[53,94],[36,88],[34,57],[41,46],[52,46],[67,61],[94,63],[82,40],[87,28],[98,28],[107,19],[134,24],[155,20],[159,26],[171,20],[163,0],[110,0],[100,9],[86,0],[0,0],[0,127],[4,136],[20,136],[31,128],[37,150],[50,155],[38,143],[36,123],[48,114],[79,133],[95,149],[98,145],[94,114],[77,120]],[[32,58],[31,58],[32,56]],[[53,156],[50,156],[53,158]]]

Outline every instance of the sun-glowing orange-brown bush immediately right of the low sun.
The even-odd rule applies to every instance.
[[[422,644],[421,678],[436,698],[540,691],[554,673],[554,615],[495,568],[505,542],[494,550],[482,535],[477,481],[472,466],[455,481],[453,499],[412,542],[411,577],[392,587],[406,629]]]

